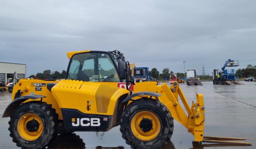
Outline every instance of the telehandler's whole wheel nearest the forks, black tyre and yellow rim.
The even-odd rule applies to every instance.
[[[160,149],[171,139],[173,126],[166,106],[154,99],[138,99],[125,108],[120,131],[132,148]]]

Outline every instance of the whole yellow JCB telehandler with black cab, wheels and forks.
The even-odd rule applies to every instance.
[[[21,79],[14,86],[13,101],[3,117],[11,118],[10,136],[17,146],[40,149],[59,133],[108,131],[120,125],[122,137],[132,148],[159,149],[172,137],[173,118],[195,141],[239,140],[205,140],[203,95],[196,94],[197,102],[190,107],[177,82],[171,87],[156,82],[135,85],[129,62],[117,50],[76,51],[67,56],[65,80]]]

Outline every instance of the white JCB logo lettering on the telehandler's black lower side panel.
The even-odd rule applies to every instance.
[[[75,123],[75,118],[72,118],[72,126],[100,126],[99,118],[77,118]]]

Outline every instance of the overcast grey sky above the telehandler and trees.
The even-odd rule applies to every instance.
[[[67,51],[115,49],[137,67],[211,74],[256,65],[255,39],[255,0],[0,0],[0,61],[27,76],[66,70]]]

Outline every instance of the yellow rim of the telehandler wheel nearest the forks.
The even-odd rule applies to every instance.
[[[147,132],[142,131],[142,129],[140,127],[141,121],[143,119],[144,120],[147,119],[152,122],[151,123],[152,129],[150,129]],[[161,129],[161,124],[160,124],[159,118],[155,114],[153,114],[149,111],[139,112],[139,113],[135,114],[132,118],[131,130],[132,130],[133,135],[135,137],[137,137],[139,140],[142,140],[142,141],[153,140],[154,138],[156,138],[159,135],[160,129]]]

